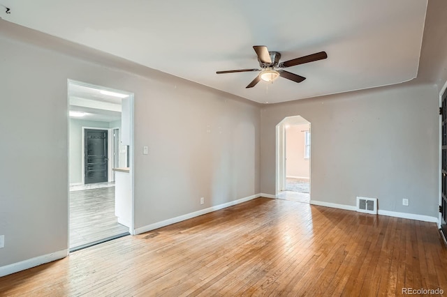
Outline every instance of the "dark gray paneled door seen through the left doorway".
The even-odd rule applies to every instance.
[[[85,129],[85,183],[108,181],[107,130]]]

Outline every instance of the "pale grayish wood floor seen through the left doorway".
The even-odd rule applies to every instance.
[[[115,187],[70,192],[70,248],[125,232],[115,217]]]

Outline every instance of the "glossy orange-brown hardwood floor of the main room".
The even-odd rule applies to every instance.
[[[436,224],[259,198],[0,277],[6,296],[395,296],[447,291]]]

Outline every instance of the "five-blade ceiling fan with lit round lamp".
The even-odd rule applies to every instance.
[[[302,77],[301,75],[295,75],[295,73],[289,73],[286,70],[278,69],[278,68],[288,68],[291,66],[296,66],[304,63],[309,63],[313,61],[323,60],[328,57],[326,52],[317,52],[315,54],[309,54],[308,56],[302,56],[300,58],[288,60],[285,62],[279,63],[279,59],[281,59],[281,54],[279,52],[269,52],[268,48],[265,45],[254,45],[254,51],[258,55],[259,66],[261,69],[240,69],[240,70],[225,70],[225,71],[217,71],[217,74],[222,73],[244,73],[249,71],[261,71],[252,82],[249,83],[246,88],[253,88],[256,86],[258,82],[264,80],[265,82],[273,82],[278,77],[284,77],[286,79],[290,79],[293,82],[302,82],[306,79],[306,77]]]

